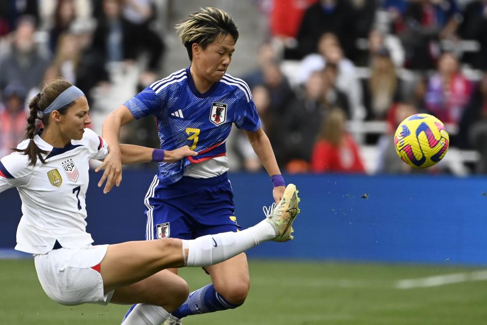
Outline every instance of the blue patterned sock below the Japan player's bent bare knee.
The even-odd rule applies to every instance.
[[[173,316],[183,318],[189,315],[211,313],[217,310],[233,309],[240,305],[229,303],[217,291],[213,284],[208,284],[189,294],[188,299],[172,312]]]

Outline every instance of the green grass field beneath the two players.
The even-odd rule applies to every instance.
[[[242,307],[191,316],[184,325],[487,323],[487,272],[479,269],[254,260],[250,270],[252,287]],[[209,281],[200,269],[181,275],[191,289]],[[31,259],[0,260],[0,281],[0,324],[119,324],[127,309],[52,302]]]

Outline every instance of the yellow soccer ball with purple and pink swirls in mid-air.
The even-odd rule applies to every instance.
[[[429,114],[414,114],[402,121],[394,135],[399,157],[414,168],[426,168],[440,161],[448,150],[445,126]]]

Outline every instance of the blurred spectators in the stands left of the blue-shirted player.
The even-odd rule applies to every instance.
[[[97,131],[108,114],[100,107],[115,109],[157,80],[165,50],[157,31],[157,4],[161,2],[0,2],[0,156],[23,139],[28,101],[47,80],[63,77],[83,90],[90,114],[97,117]],[[113,87],[117,75],[130,76],[125,80],[129,91]],[[125,138],[137,132],[130,131]]]

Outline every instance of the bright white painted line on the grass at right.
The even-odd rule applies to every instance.
[[[485,280],[487,280],[487,270],[469,273],[452,273],[418,279],[404,279],[397,281],[395,286],[398,289],[412,289]]]

